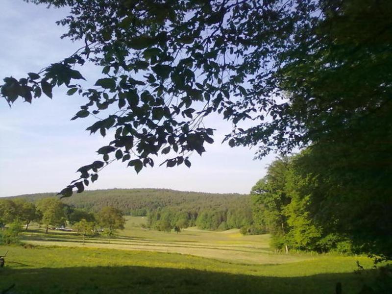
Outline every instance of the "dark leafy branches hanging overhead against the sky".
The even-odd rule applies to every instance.
[[[73,189],[82,192],[114,160],[136,172],[152,167],[158,155],[169,156],[164,160],[167,167],[190,167],[191,153],[201,155],[205,144],[214,142],[214,128],[203,123],[213,113],[233,124],[224,139],[229,146],[257,146],[256,157],[262,157],[318,142],[386,99],[382,91],[370,104],[368,98],[358,98],[360,93],[375,94],[361,92],[356,79],[346,92],[339,87],[342,76],[356,70],[355,58],[367,61],[381,56],[388,64],[385,55],[376,55],[378,51],[369,46],[367,34],[355,31],[356,20],[369,19],[371,14],[364,15],[376,9],[375,4],[357,5],[353,0],[344,4],[335,0],[29,2],[69,6],[70,15],[57,22],[69,28],[62,37],[85,45],[38,73],[5,78],[1,96],[10,105],[18,98],[31,103],[42,93],[52,98],[53,87],[65,85],[67,95],[86,100],[73,120],[108,109],[110,115],[87,130],[102,136],[114,132],[108,146],[98,149],[102,161],[80,168],[80,178],[61,191],[63,196],[71,196]],[[368,31],[380,31],[381,37],[389,33],[387,11],[377,13],[378,25],[367,27]],[[351,41],[347,31],[354,35]],[[353,59],[342,59],[346,55]],[[102,72],[91,88],[78,84],[84,78],[75,70],[87,61]],[[378,77],[368,83],[384,86],[383,77]],[[244,121],[253,126],[246,128]]]

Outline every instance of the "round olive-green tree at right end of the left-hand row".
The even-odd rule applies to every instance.
[[[109,243],[116,230],[123,230],[125,219],[123,213],[114,207],[107,206],[98,213],[98,222],[104,229],[105,235],[109,237]]]

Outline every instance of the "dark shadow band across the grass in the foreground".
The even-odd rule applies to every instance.
[[[361,277],[353,273],[265,277],[135,266],[0,269],[0,290],[15,283],[13,291],[20,294],[333,294],[337,282],[342,283],[344,294],[357,294],[363,286]]]

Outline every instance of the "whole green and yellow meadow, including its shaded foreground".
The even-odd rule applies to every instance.
[[[83,245],[73,232],[37,227],[23,246],[9,250],[0,269],[0,291],[9,293],[359,293],[371,270],[353,273],[360,256],[276,254],[269,236],[242,236],[237,230],[176,233],[146,230],[142,218],[128,218],[110,244],[90,238]]]

